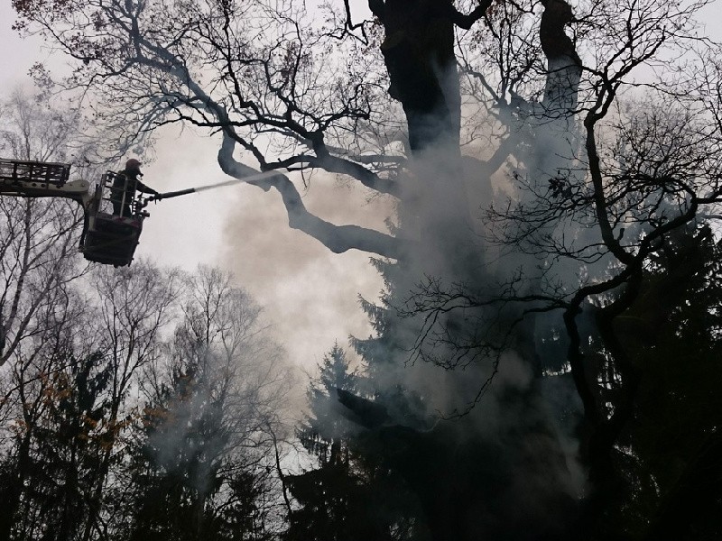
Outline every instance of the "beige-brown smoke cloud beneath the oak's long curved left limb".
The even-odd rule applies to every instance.
[[[392,214],[389,198],[367,200],[366,190],[331,175],[314,175],[304,204],[335,224],[384,231]],[[247,186],[238,189],[235,210],[223,230],[221,261],[264,307],[272,333],[293,362],[311,368],[334,342],[366,336],[371,327],[358,295],[378,297],[383,281],[366,253],[341,254],[288,226],[280,196]]]

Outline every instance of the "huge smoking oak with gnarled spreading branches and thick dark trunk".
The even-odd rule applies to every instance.
[[[292,2],[14,5],[81,60],[73,82],[97,92],[100,120],[140,142],[168,123],[219,131],[221,170],[279,171],[251,184],[279,193],[292,228],[380,258],[384,298],[364,305],[377,335],[355,342],[367,387],[339,399],[426,534],[639,527],[629,321],[661,328],[646,294],[665,296],[652,305],[665,316],[681,309],[686,293],[648,271],[669,247],[664,275],[699,275],[680,260],[697,261],[687,244],[708,238],[720,196],[718,47],[694,34],[704,2],[373,1],[361,24],[348,5],[322,22]],[[646,67],[664,114],[625,110]],[[310,213],[281,171],[314,169],[393,198],[389,232]],[[581,411],[552,408],[550,388],[573,389]],[[461,417],[434,422],[436,409]],[[580,436],[583,498],[560,426]],[[680,479],[698,478],[687,460]]]

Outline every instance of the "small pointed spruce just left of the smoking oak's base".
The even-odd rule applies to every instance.
[[[308,472],[285,475],[298,508],[289,517],[287,539],[411,539],[418,508],[400,480],[364,450],[355,423],[338,403],[338,390],[358,392],[362,376],[352,371],[338,344],[324,355],[307,391],[309,414],[297,430],[301,445],[318,458]]]

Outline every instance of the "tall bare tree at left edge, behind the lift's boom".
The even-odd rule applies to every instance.
[[[76,142],[76,112],[19,90],[0,104],[0,152],[17,160],[63,160]],[[1,193],[1,191],[0,191]],[[23,519],[36,463],[36,431],[47,421],[51,376],[74,362],[71,336],[83,310],[74,282],[86,271],[75,251],[79,207],[61,200],[0,197],[0,538]],[[77,322],[79,323],[79,321]],[[44,468],[43,468],[44,470]],[[36,480],[35,480],[36,481]],[[30,483],[30,484],[28,484]],[[37,508],[32,513],[37,518]],[[32,532],[18,532],[33,536]]]

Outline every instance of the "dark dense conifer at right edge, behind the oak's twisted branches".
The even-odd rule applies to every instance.
[[[712,539],[722,533],[720,243],[708,226],[664,239],[616,331],[642,374],[634,416],[620,437],[625,492],[616,512],[647,539]],[[607,393],[619,378],[608,372]]]

